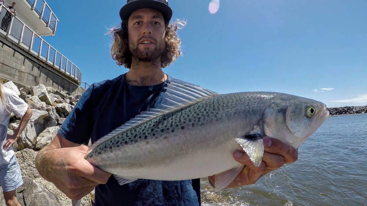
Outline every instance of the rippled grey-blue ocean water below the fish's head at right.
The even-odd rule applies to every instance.
[[[298,160],[254,185],[215,193],[201,180],[203,206],[367,205],[367,114],[330,116],[298,149]]]

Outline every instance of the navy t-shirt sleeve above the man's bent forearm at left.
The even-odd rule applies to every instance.
[[[87,144],[90,139],[91,130],[94,126],[93,88],[94,86],[91,85],[83,93],[58,131],[59,135],[73,143]]]

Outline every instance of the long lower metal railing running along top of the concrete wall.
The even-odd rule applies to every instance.
[[[12,15],[4,5],[1,5],[0,21],[0,33],[4,34],[8,40],[80,84],[79,67],[38,36],[17,16]]]

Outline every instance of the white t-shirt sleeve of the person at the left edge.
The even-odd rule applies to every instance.
[[[6,95],[6,104],[8,106],[8,109],[15,114],[18,115],[18,117],[23,117],[25,112],[28,109],[28,104],[24,102],[14,91],[11,89],[7,90]]]

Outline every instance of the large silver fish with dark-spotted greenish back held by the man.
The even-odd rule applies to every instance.
[[[241,147],[259,166],[262,136],[297,148],[326,120],[326,105],[275,92],[217,94],[171,82],[163,109],[150,109],[113,130],[88,150],[86,159],[120,184],[137,179],[188,180],[219,174],[224,189],[243,165]]]

